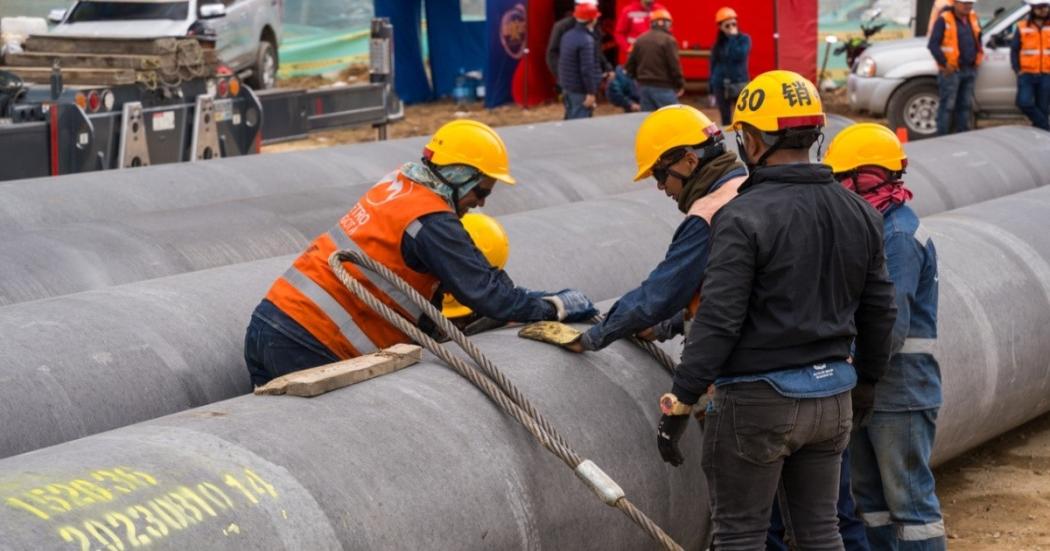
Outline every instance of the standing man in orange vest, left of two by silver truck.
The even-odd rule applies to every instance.
[[[951,9],[941,13],[926,44],[940,68],[937,77],[940,92],[937,133],[940,135],[970,129],[973,83],[984,57],[981,22],[973,13],[975,1],[956,0]]]

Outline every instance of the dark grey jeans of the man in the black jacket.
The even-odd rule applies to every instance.
[[[836,505],[852,421],[848,391],[795,399],[764,382],[719,387],[704,424],[713,549],[762,549],[783,484],[798,548],[842,550]]]

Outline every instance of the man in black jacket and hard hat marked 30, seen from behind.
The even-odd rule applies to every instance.
[[[841,455],[852,408],[867,415],[889,360],[895,306],[881,216],[810,162],[825,120],[795,72],[740,92],[733,127],[751,175],[712,220],[704,299],[659,400],[657,447],[680,465],[693,404],[714,386],[702,465],[715,549],[761,549],[776,494],[799,549],[842,549]]]

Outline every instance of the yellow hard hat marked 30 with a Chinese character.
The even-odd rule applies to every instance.
[[[733,128],[749,124],[763,132],[824,126],[827,118],[817,87],[790,70],[771,70],[740,91],[733,111]]]

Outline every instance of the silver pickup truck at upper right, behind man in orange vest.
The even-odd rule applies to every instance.
[[[1017,79],[1010,67],[1010,41],[1028,5],[1016,2],[982,25],[985,59],[974,85],[976,119],[1020,116]],[[925,38],[880,42],[852,68],[846,90],[849,108],[886,116],[891,128],[905,127],[911,139],[937,133],[937,63]]]

